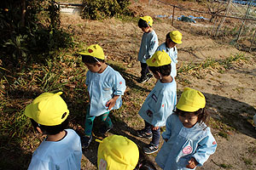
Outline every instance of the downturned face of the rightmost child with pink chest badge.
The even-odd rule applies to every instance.
[[[195,113],[179,113],[178,118],[180,122],[183,123],[183,126],[187,128],[194,127],[195,123],[198,121],[198,116],[195,116]]]

